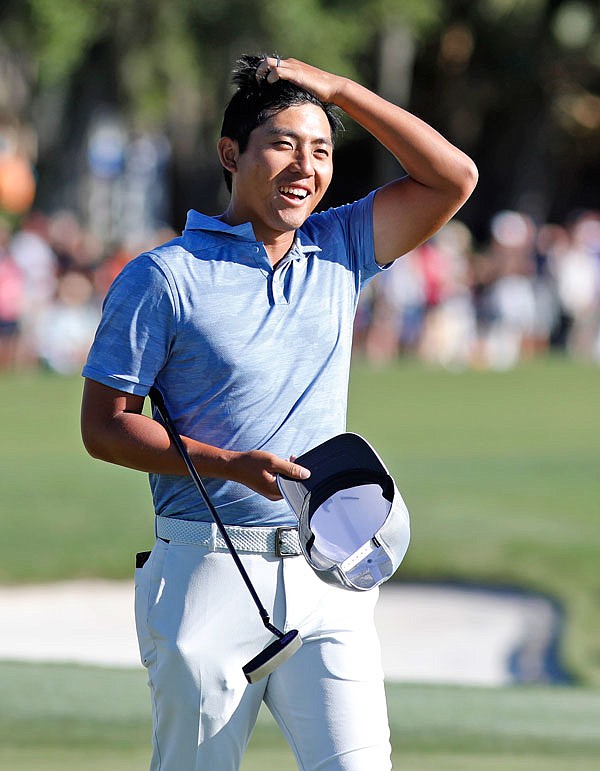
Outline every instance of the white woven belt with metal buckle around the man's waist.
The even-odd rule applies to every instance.
[[[194,522],[174,517],[155,518],[156,536],[165,541],[205,546],[210,551],[227,549],[225,539],[214,522]],[[240,527],[227,525],[227,535],[236,551],[295,557],[302,554],[295,527]]]

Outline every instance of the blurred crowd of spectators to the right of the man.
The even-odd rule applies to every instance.
[[[481,246],[452,220],[363,295],[356,348],[449,370],[510,369],[550,349],[600,364],[600,211],[536,226],[498,212]]]

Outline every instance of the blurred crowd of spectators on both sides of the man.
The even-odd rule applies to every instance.
[[[355,353],[450,370],[510,369],[550,349],[600,364],[600,211],[536,225],[498,212],[487,242],[452,220],[361,297]],[[69,211],[0,221],[0,370],[81,370],[110,283],[160,229],[109,248]]]

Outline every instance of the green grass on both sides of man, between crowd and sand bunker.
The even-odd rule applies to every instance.
[[[144,474],[89,458],[79,378],[0,376],[0,582],[131,576],[153,540]],[[380,451],[412,515],[398,580],[552,595],[563,660],[600,684],[600,369],[562,359],[453,374],[356,362],[349,429]]]

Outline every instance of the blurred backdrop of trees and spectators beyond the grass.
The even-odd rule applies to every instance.
[[[125,262],[219,213],[243,52],[360,80],[470,154],[453,222],[371,285],[357,354],[509,369],[600,362],[596,0],[4,0],[0,368],[79,372]],[[325,206],[398,175],[346,121]]]

